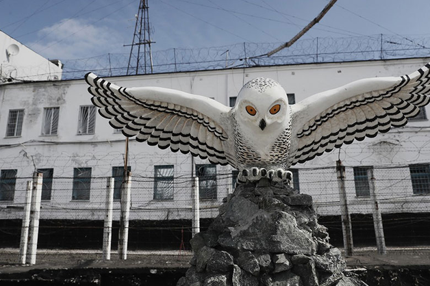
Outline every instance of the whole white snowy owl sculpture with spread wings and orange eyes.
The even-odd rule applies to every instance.
[[[234,107],[167,88],[122,88],[92,73],[85,79],[99,114],[125,136],[230,164],[242,181],[283,181],[296,163],[404,126],[430,101],[429,68],[361,79],[295,105],[279,83],[257,78],[243,86]]]

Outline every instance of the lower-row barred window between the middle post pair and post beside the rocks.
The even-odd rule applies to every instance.
[[[154,200],[173,200],[173,165],[154,166]]]

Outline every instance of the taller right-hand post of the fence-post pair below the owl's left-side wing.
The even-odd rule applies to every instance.
[[[118,255],[119,259],[127,259],[127,245],[129,239],[129,217],[130,217],[130,187],[131,172],[125,171],[124,182],[121,185],[121,218],[119,221]]]

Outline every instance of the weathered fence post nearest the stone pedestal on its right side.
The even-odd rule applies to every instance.
[[[348,200],[346,199],[345,188],[345,166],[342,161],[336,161],[336,172],[338,173],[339,199],[340,199],[340,217],[342,218],[342,234],[344,238],[345,255],[353,255],[353,227],[351,225],[351,216],[348,211]]]

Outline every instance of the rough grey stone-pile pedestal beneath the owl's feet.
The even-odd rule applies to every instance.
[[[177,286],[366,285],[344,276],[312,197],[266,179],[238,185],[191,246],[191,267]]]

